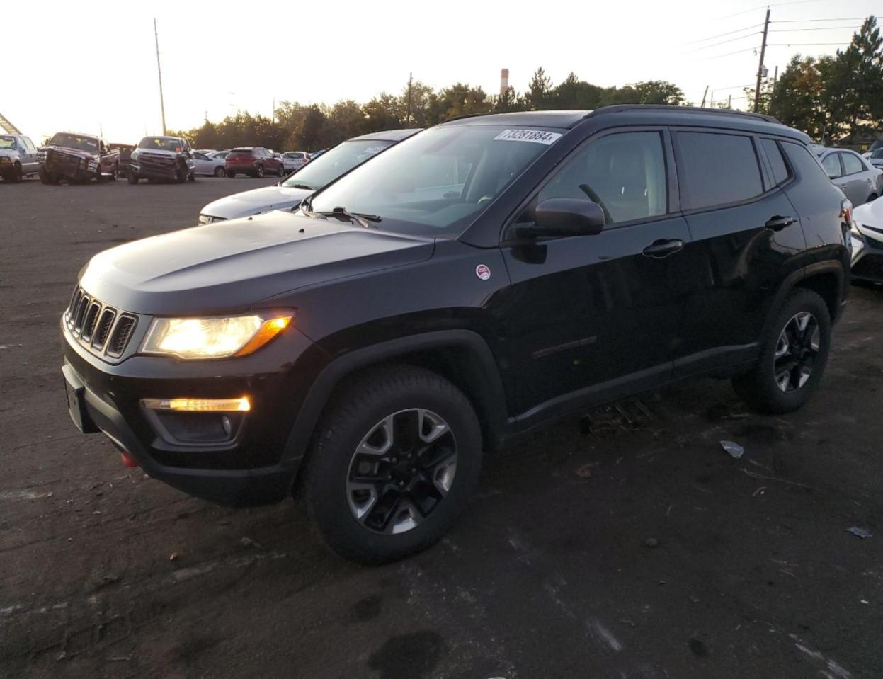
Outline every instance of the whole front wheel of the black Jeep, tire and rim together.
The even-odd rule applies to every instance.
[[[478,485],[481,450],[478,418],[453,384],[415,366],[379,366],[329,404],[307,457],[306,508],[338,555],[396,561],[456,523]]]

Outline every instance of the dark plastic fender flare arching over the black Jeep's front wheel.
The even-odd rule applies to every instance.
[[[291,426],[291,433],[285,442],[281,464],[283,468],[296,471],[306,455],[313,431],[319,422],[322,411],[328,404],[336,387],[351,373],[361,368],[373,366],[396,357],[415,351],[431,349],[461,349],[469,351],[476,359],[479,378],[483,385],[477,394],[471,394],[478,400],[479,407],[487,415],[487,429],[494,445],[506,426],[506,397],[500,373],[497,370],[494,354],[485,339],[472,330],[450,329],[436,330],[393,340],[372,344],[335,358],[313,381],[307,392],[304,403]]]

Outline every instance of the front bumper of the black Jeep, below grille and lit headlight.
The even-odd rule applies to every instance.
[[[290,493],[304,453],[287,445],[300,404],[291,395],[304,393],[306,385],[298,384],[292,371],[271,366],[290,366],[284,357],[312,346],[299,332],[280,336],[266,352],[233,361],[134,356],[117,364],[90,353],[64,322],[62,334],[69,410],[81,431],[106,434],[149,476],[211,502],[250,506],[279,502]],[[181,431],[200,433],[204,427],[194,430],[187,420],[182,429],[181,419],[169,426],[169,413],[161,418],[141,404],[143,398],[243,395],[251,399],[252,411],[240,415],[226,440],[216,427],[208,439],[182,438]]]

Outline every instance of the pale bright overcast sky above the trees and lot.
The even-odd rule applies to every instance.
[[[845,46],[854,28],[832,26],[858,26],[880,9],[880,0],[772,4],[770,75],[796,52],[837,49],[779,43]],[[510,84],[522,91],[540,65],[555,83],[570,71],[602,86],[664,79],[697,105],[709,85],[716,101],[732,94],[743,106],[735,98],[754,81],[752,48],[764,14],[758,0],[32,0],[4,19],[0,113],[37,143],[62,129],[129,143],[161,132],[154,18],[166,124],[176,129],[236,109],[269,115],[274,99],[365,102],[383,90],[400,92],[409,72],[433,87],[460,81],[495,94],[506,67]],[[804,30],[784,32],[793,28]]]

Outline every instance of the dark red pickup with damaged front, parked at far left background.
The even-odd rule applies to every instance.
[[[92,134],[57,132],[43,147],[38,172],[43,184],[57,184],[62,179],[72,183],[116,180],[117,170],[119,152],[104,140]]]

